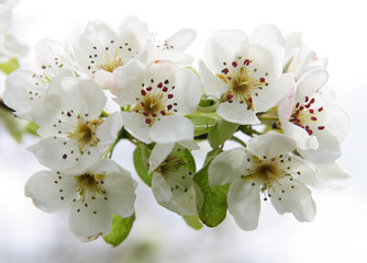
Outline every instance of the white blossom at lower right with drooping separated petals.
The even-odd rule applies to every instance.
[[[266,134],[219,155],[209,167],[209,184],[232,183],[227,204],[237,225],[244,230],[257,228],[260,194],[279,214],[292,213],[299,221],[311,221],[315,203],[307,184],[315,176],[305,163],[293,156],[296,141],[279,134]]]

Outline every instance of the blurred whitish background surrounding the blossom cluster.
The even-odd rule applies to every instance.
[[[137,219],[127,240],[119,248],[111,248],[102,239],[79,243],[68,231],[67,211],[44,214],[24,196],[25,181],[43,169],[25,150],[35,138],[26,137],[18,145],[0,123],[0,263],[366,262],[365,10],[362,0],[21,0],[13,10],[11,32],[31,49],[42,38],[76,43],[88,20],[100,19],[118,27],[130,14],[147,22],[162,39],[181,27],[196,28],[198,38],[188,52],[197,58],[202,58],[205,39],[216,30],[251,33],[258,24],[274,23],[283,33],[301,32],[320,57],[329,58],[329,83],[351,117],[340,162],[352,179],[343,191],[313,192],[318,204],[313,222],[300,224],[291,215],[279,216],[269,203],[263,203],[259,227],[251,232],[242,231],[231,215],[216,229],[194,231],[158,206],[137,179]],[[23,69],[34,69],[33,52],[20,64]],[[3,79],[2,75],[0,94]],[[114,159],[133,172],[133,148],[125,142],[118,149]],[[196,153],[198,158],[203,155]]]

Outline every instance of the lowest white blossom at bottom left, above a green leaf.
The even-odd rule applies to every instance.
[[[91,241],[110,232],[113,214],[125,218],[134,213],[135,188],[130,172],[102,159],[79,173],[40,171],[26,182],[25,195],[46,213],[69,207],[71,232]]]

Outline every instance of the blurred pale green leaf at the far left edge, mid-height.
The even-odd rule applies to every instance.
[[[10,135],[21,142],[24,133],[26,132],[26,121],[16,118],[11,112],[0,108],[0,119],[4,123]]]

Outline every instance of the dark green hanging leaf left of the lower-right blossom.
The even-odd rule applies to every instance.
[[[199,218],[208,227],[216,227],[220,225],[224,220],[227,210],[226,195],[230,185],[209,186],[208,183],[209,165],[220,152],[220,148],[215,148],[208,152],[203,168],[193,178],[193,181],[203,193],[202,206],[199,209]]]

